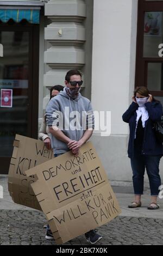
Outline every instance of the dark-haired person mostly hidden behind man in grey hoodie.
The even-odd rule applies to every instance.
[[[50,92],[50,100],[53,97],[57,96],[62,90],[64,90],[64,86],[53,86]],[[39,131],[39,139],[41,139],[41,141],[45,143],[47,149],[51,149],[51,139],[49,137],[49,131],[46,124],[45,116],[42,118],[42,123]]]

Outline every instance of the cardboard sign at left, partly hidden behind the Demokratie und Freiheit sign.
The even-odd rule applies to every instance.
[[[42,141],[16,135],[8,178],[8,189],[15,203],[41,210],[31,187],[36,176],[27,177],[25,170],[53,157],[53,151],[47,150]]]

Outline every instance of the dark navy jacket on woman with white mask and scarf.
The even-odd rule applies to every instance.
[[[143,138],[142,154],[143,155],[163,155],[162,143],[156,139],[153,123],[161,120],[162,105],[158,101],[152,101],[145,103],[147,108],[149,119],[145,123],[145,133]],[[128,156],[132,158],[134,156],[134,139],[136,129],[136,110],[139,105],[133,102],[122,115],[124,122],[129,123],[130,136],[128,143]]]

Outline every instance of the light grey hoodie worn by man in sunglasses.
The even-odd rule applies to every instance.
[[[65,111],[65,107],[68,110]],[[73,111],[80,113],[80,117],[76,119],[76,115]],[[78,129],[71,129],[71,124],[76,123],[73,120],[78,120]],[[62,121],[61,121],[62,120]],[[85,125],[83,125],[82,120],[85,120]],[[60,129],[68,138],[75,141],[79,141],[84,135],[84,132],[89,127],[94,129],[94,115],[91,102],[86,97],[83,97],[80,93],[77,99],[73,100],[65,92],[60,92],[57,96],[53,97],[46,108],[46,122],[50,126],[58,126],[60,129],[60,124],[62,129]],[[70,122],[70,126],[67,124]],[[65,128],[66,124],[66,128]],[[73,126],[74,127],[74,126]],[[80,127],[80,130],[79,130]],[[51,134],[52,148],[55,154],[66,153],[68,149],[65,142],[59,141]]]

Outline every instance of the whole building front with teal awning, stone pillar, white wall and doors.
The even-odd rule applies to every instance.
[[[131,180],[122,114],[135,86],[163,102],[163,1],[19,0],[0,1],[0,8],[1,101],[7,93],[13,99],[0,107],[0,172],[8,172],[15,133],[37,137],[49,88],[77,68],[82,94],[98,113],[111,113],[111,129],[92,137],[109,179]]]

